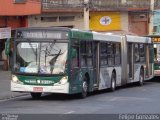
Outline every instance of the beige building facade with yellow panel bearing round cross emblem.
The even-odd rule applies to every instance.
[[[149,32],[150,0],[89,0],[89,30]],[[42,14],[28,18],[28,26],[84,29],[84,0],[42,0]]]

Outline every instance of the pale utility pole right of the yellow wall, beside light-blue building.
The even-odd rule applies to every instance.
[[[154,11],[154,0],[150,0],[149,35],[153,34],[153,11]]]

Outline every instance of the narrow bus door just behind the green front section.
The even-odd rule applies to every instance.
[[[93,79],[94,79],[94,87],[98,88],[99,85],[99,44],[98,42],[93,43]]]

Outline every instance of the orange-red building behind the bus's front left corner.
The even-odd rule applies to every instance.
[[[29,15],[37,14],[41,14],[39,0],[0,0],[0,35],[9,28],[7,34],[13,36],[15,28],[28,27]],[[0,37],[0,70],[9,68],[9,58],[4,54],[6,39],[7,37]]]

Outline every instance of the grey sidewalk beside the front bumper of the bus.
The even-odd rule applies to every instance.
[[[18,96],[24,96],[28,93],[18,93],[10,91],[10,71],[0,71],[0,100],[10,99]]]

